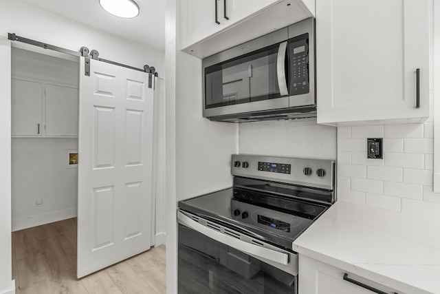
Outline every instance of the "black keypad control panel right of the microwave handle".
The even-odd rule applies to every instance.
[[[289,40],[289,94],[309,93],[309,34]]]

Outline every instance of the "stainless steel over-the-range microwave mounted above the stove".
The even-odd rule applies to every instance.
[[[316,117],[314,21],[203,59],[203,117],[232,123]]]

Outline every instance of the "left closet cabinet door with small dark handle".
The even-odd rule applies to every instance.
[[[12,78],[12,136],[41,136],[43,133],[42,90],[41,83]]]

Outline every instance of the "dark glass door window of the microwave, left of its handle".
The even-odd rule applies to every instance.
[[[278,44],[205,69],[206,108],[280,97]]]

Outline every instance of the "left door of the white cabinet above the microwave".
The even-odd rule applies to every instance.
[[[186,48],[223,29],[223,0],[182,0],[180,15],[181,48]]]

